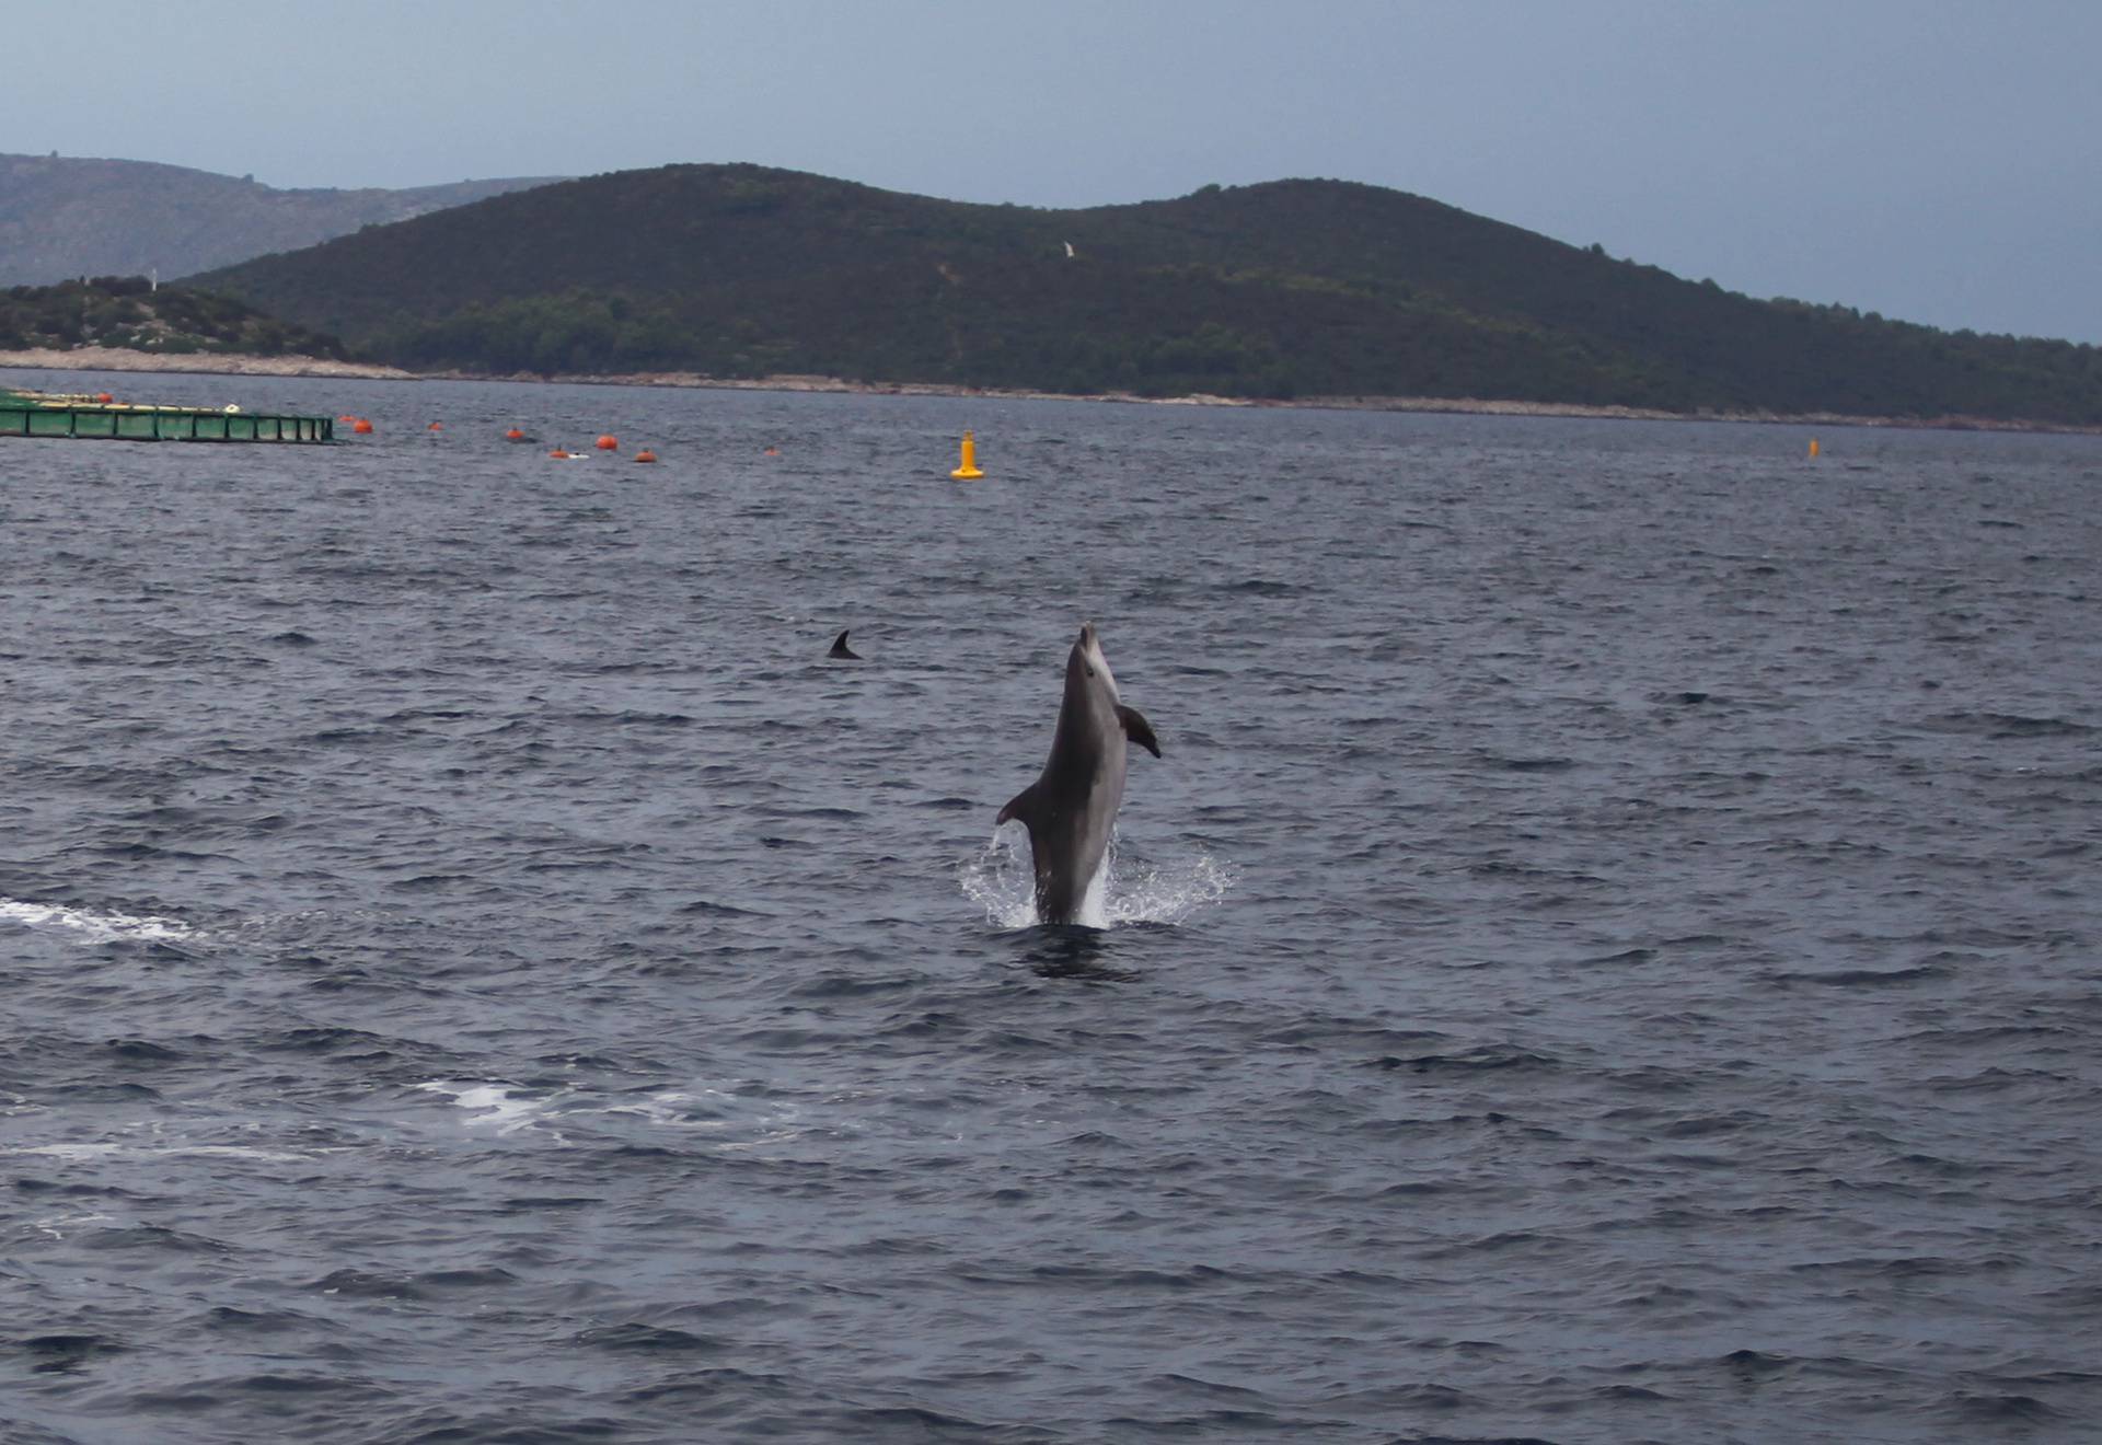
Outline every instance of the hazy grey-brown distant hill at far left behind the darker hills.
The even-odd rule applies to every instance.
[[[151,271],[177,277],[544,183],[280,191],[248,176],[141,160],[0,155],[0,286]]]

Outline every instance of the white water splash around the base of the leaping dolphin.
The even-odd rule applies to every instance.
[[[1127,924],[1179,924],[1190,914],[1217,903],[1232,891],[1236,870],[1204,849],[1152,861],[1122,853],[1110,840],[1110,853],[1074,920],[1085,928],[1120,928]],[[1028,830],[1019,823],[998,828],[986,846],[956,870],[963,897],[986,909],[994,928],[1030,928],[1036,924],[1036,870],[1030,861]]]

